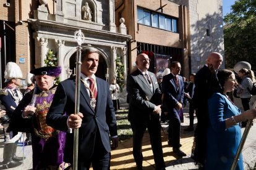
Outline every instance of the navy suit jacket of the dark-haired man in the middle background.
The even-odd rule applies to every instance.
[[[178,75],[179,89],[176,88],[176,83],[173,74],[163,76],[163,105],[169,111],[177,111],[176,103],[183,103],[184,99],[184,81],[182,76]]]

